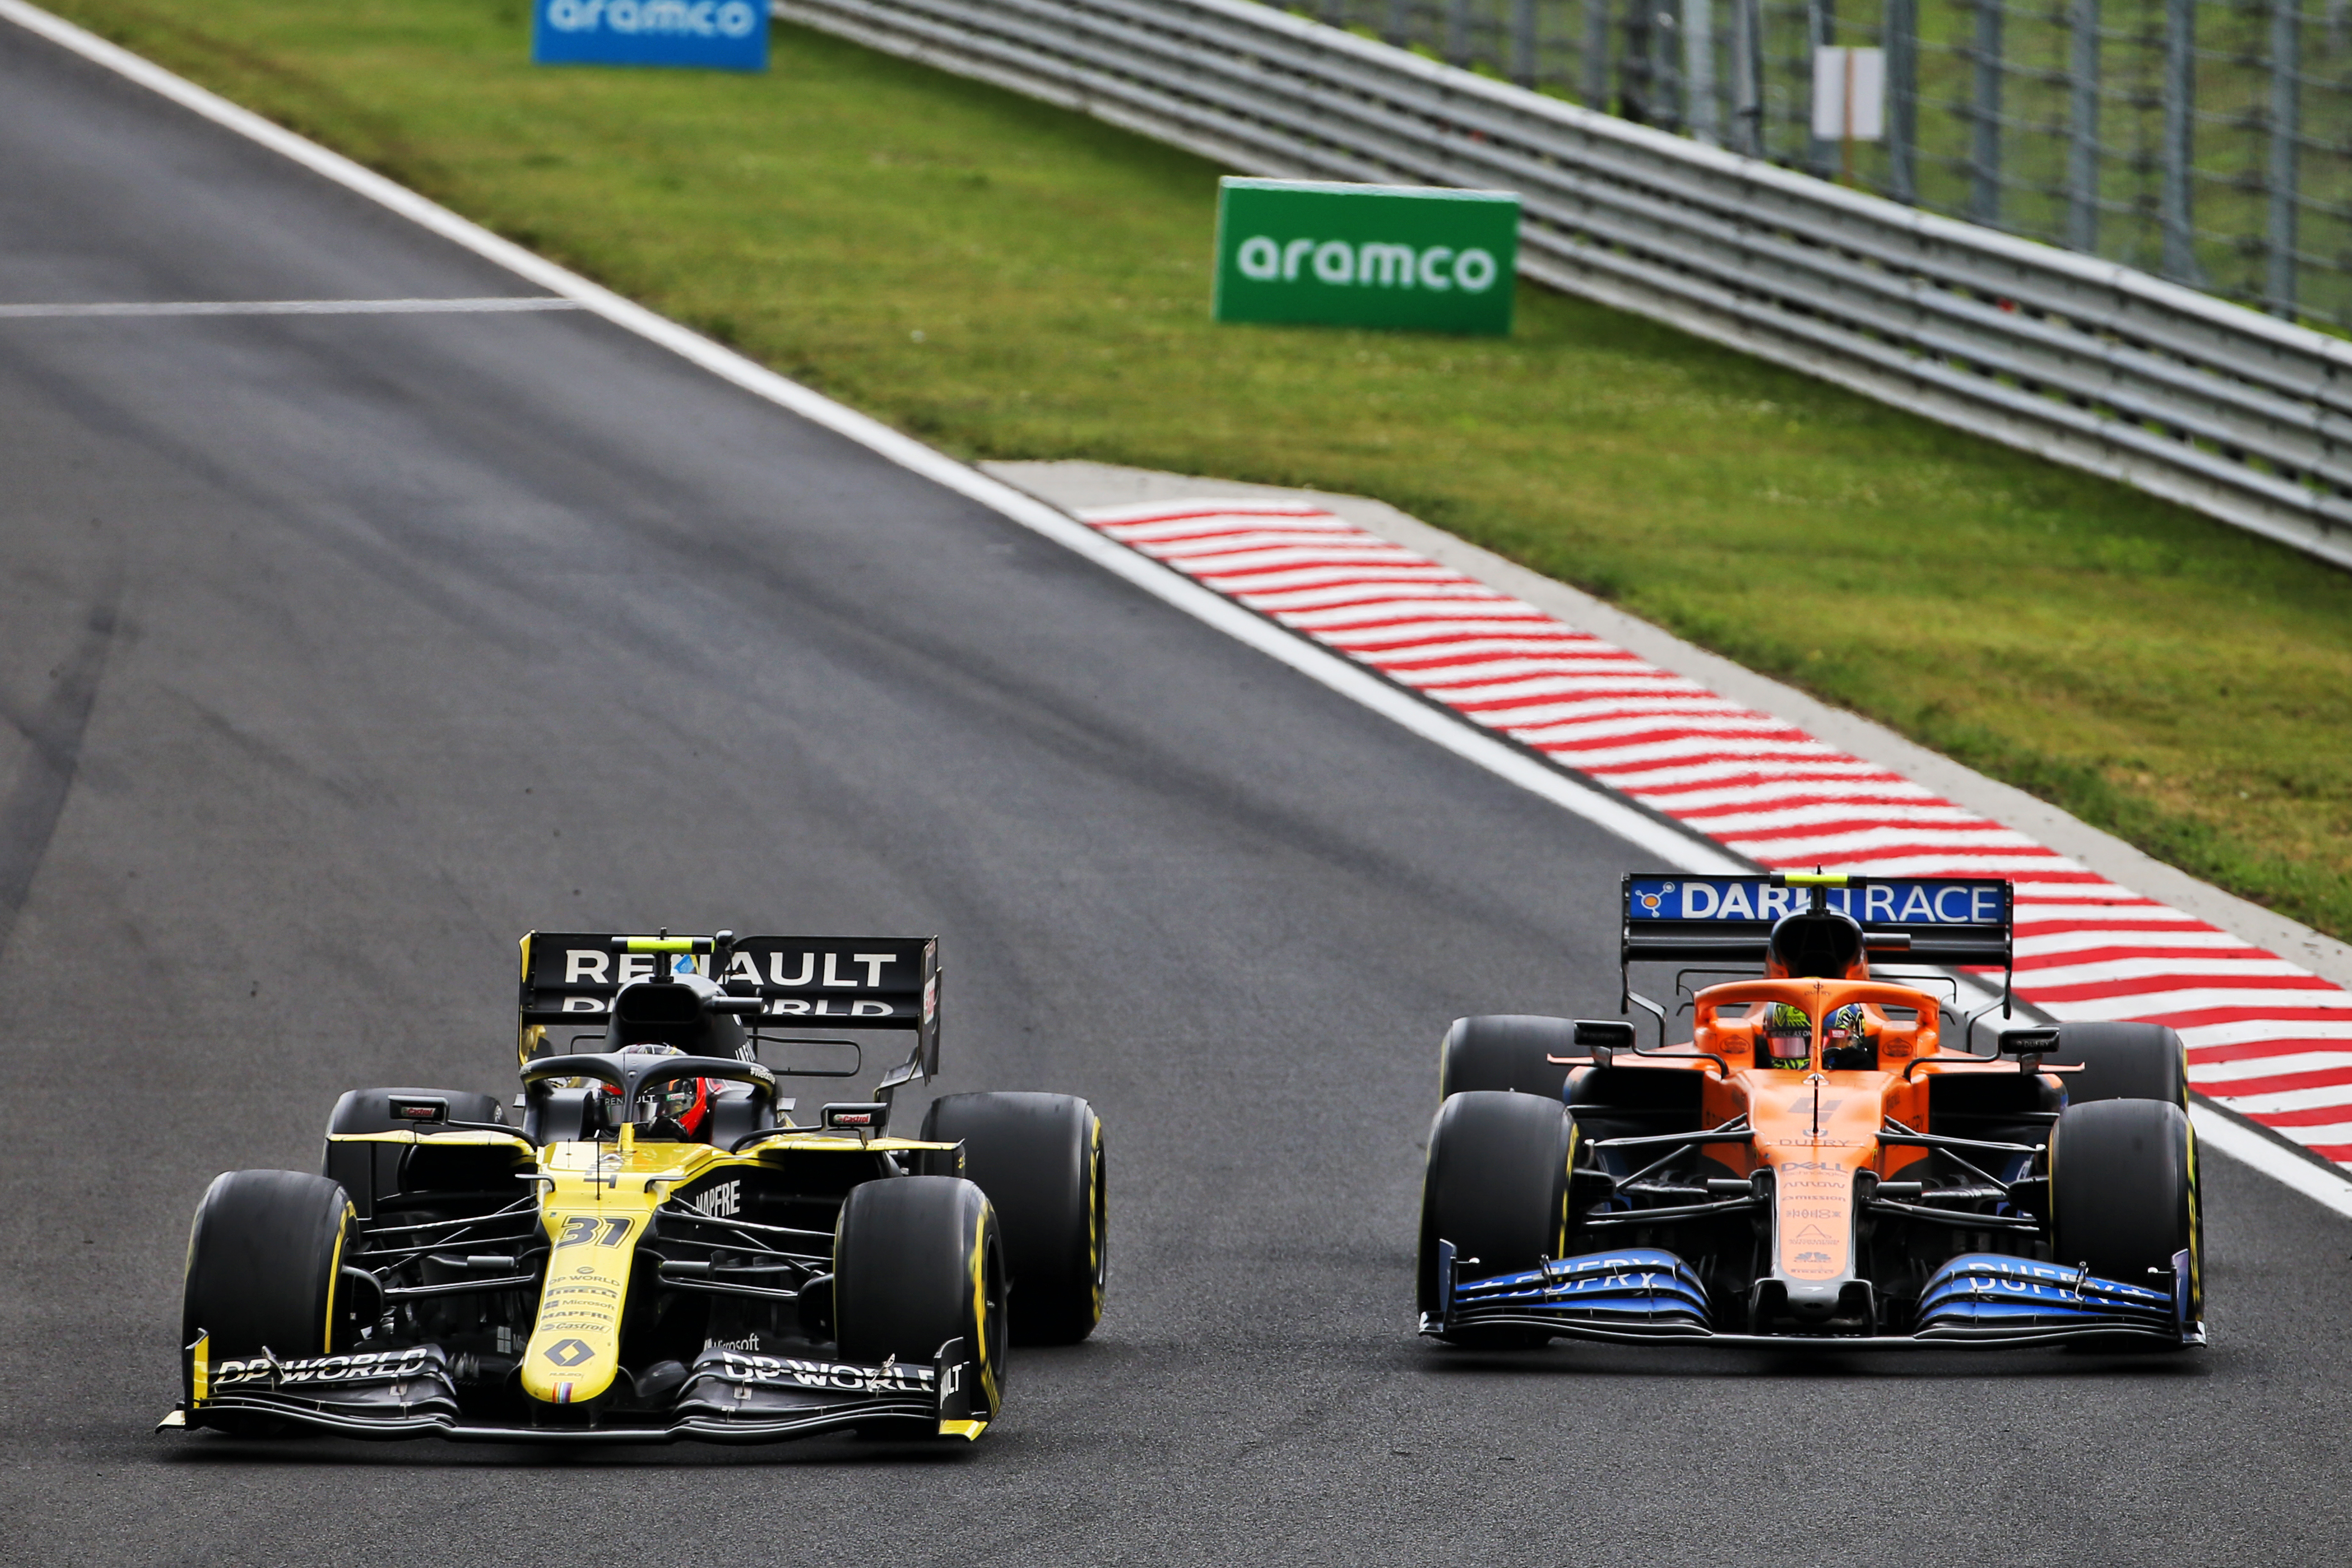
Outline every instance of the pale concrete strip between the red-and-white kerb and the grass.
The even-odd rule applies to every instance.
[[[1155,473],[1150,468],[1120,468],[1115,463],[981,463],[983,470],[1025,489],[1040,501],[1058,508],[1120,505],[1127,501],[1183,501],[1190,496],[1218,498],[1287,498],[1312,501],[1338,517],[1390,538],[1430,559],[1465,571],[1477,581],[1526,599],[1536,609],[1559,616],[1595,637],[1604,637],[1630,654],[1665,665],[1677,675],[1712,686],[1717,693],[1745,703],[1759,712],[1788,719],[1806,729],[1818,741],[1853,752],[1863,762],[1893,769],[1945,799],[1978,811],[2004,827],[2016,827],[2060,856],[2079,860],[2098,875],[2145,893],[2159,903],[2211,922],[2223,931],[2246,938],[2284,959],[2352,987],[2352,945],[2333,936],[2312,931],[2305,924],[2274,914],[2234,893],[2225,893],[2209,882],[2154,860],[2112,832],[2100,832],[2077,820],[2058,806],[2027,795],[2013,785],[1966,769],[1940,752],[1931,752],[1917,741],[1907,741],[1884,724],[1875,724],[1844,708],[1832,708],[1816,696],[1785,686],[1745,665],[1736,665],[1722,654],[1710,654],[1665,628],[1630,616],[1606,599],[1569,588],[1541,571],[1529,571],[1503,559],[1494,550],[1482,550],[1444,529],[1432,529],[1418,517],[1409,517],[1385,501],[1367,496],[1334,496],[1312,489],[1282,489],[1275,484],[1242,484],[1237,480],[1204,480],[1192,475]]]

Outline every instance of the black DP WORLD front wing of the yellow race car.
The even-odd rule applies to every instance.
[[[212,1361],[191,1349],[193,1399],[165,1427],[233,1427],[254,1418],[339,1436],[440,1436],[459,1443],[774,1443],[844,1427],[931,1427],[976,1439],[990,1413],[974,1401],[981,1368],[964,1340],[929,1366],[858,1366],[708,1347],[659,1410],[612,1410],[564,1422],[466,1420],[452,1356],[440,1345],[348,1356]]]

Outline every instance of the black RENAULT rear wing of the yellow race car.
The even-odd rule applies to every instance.
[[[670,973],[762,997],[767,1009],[743,1018],[748,1027],[915,1030],[915,1065],[938,1072],[936,936],[532,931],[520,1023],[602,1023],[623,985]]]

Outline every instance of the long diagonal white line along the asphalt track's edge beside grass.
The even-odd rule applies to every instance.
[[[764,397],[809,423],[823,425],[835,435],[842,435],[868,451],[898,463],[960,496],[978,501],[995,512],[1051,538],[1058,545],[1084,555],[1105,571],[1134,583],[1136,588],[1150,592],[1152,597],[1167,602],[1174,609],[1195,616],[1214,625],[1216,630],[1235,637],[1272,658],[1279,658],[1301,675],[1338,691],[1341,696],[1355,698],[1364,708],[1371,708],[1381,717],[1388,717],[1404,729],[1432,741],[1456,757],[1472,762],[1489,773],[1541,795],[1543,799],[1573,811],[1588,823],[1625,839],[1635,849],[1649,851],[1665,860],[1672,870],[1698,872],[1698,875],[1736,875],[1748,867],[1731,856],[1712,853],[1696,839],[1665,827],[1663,823],[1625,806],[1606,795],[1599,795],[1585,785],[1573,783],[1566,773],[1526,757],[1491,736],[1484,736],[1468,726],[1463,719],[1439,715],[1435,708],[1402,689],[1388,684],[1352,663],[1345,663],[1338,654],[1319,649],[1303,637],[1284,632],[1282,628],[1258,618],[1256,614],[1232,604],[1230,599],[1178,576],[1174,569],[1162,567],[1127,545],[1103,538],[1091,527],[1077,522],[1068,512],[1049,508],[1047,503],[1018,491],[1002,480],[990,480],[988,475],[957,463],[955,458],[931,451],[922,442],[915,442],[877,418],[868,418],[856,409],[847,409],[821,393],[811,393],[797,381],[788,381],[776,371],[753,364],[731,348],[722,348],[710,339],[687,331],[677,322],[654,315],[644,306],[621,299],[612,289],[588,282],[569,268],[560,268],[543,256],[501,240],[480,223],[456,216],[440,202],[430,202],[414,190],[397,186],[372,169],[343,158],[341,153],[329,153],[327,148],[296,136],[294,132],[263,120],[261,115],[238,108],[228,99],[179,78],[153,61],[139,59],[129,49],[106,42],[103,38],[87,33],[61,16],[26,5],[24,0],[0,0],[0,16],[14,21],[28,33],[38,33],[49,42],[80,54],[82,59],[113,71],[165,99],[172,99],[181,108],[188,108],[223,129],[238,132],[249,141],[256,141],[273,153],[282,153],[294,162],[332,179],[334,183],[369,197],[372,202],[397,212],[412,223],[442,235],[452,244],[459,244],[485,261],[494,261],[506,270],[536,282],[550,294],[562,294],[564,299],[579,301],[583,308],[595,310],[607,322],[635,331],[637,336],[668,348],[670,353],[691,360],[694,364],[708,369],[713,376],[736,383],[739,388]],[[2263,1175],[2270,1175],[2305,1197],[2326,1204],[2336,1213],[2352,1218],[2352,1180],[2343,1180],[2321,1171],[2307,1159],[2288,1154],[2286,1150],[2272,1145],[2258,1133],[2249,1133],[2227,1117],[2197,1107],[2197,1133],[2211,1147],[2239,1159]]]

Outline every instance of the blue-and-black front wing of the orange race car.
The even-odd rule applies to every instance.
[[[1717,1331],[1705,1284],[1691,1265],[1663,1248],[1588,1253],[1541,1269],[1461,1281],[1454,1244],[1439,1241],[1437,1300],[1439,1312],[1421,1314],[1421,1333],[1432,1338],[1477,1328],[1536,1328],[1632,1345],[1783,1349],[1950,1349],[2058,1340],[2204,1345],[2204,1324],[2190,1319],[2187,1253],[2173,1258],[2173,1284],[2166,1291],[2032,1258],[1966,1253],[1926,1281],[1910,1333],[1875,1335]]]

